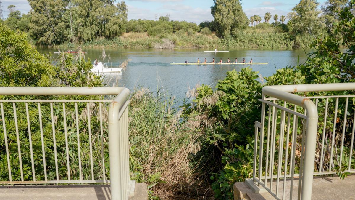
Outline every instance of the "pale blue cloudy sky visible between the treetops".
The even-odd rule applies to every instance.
[[[27,0],[0,0],[2,2],[2,13],[7,17],[9,11],[7,6],[13,4],[17,10],[27,13],[29,7]],[[213,0],[125,0],[128,5],[128,19],[155,20],[155,15],[162,16],[170,14],[171,20],[188,21],[200,23],[212,21],[211,6]],[[266,12],[272,15],[285,15],[298,4],[299,0],[242,0],[242,7],[248,17],[259,15],[264,19]],[[326,0],[318,0],[323,5]],[[264,20],[263,20],[264,21]],[[271,20],[272,21],[272,20]]]

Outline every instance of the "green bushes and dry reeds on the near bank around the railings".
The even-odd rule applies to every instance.
[[[279,69],[270,77],[260,77],[258,72],[250,68],[241,69],[239,72],[233,70],[227,73],[224,80],[218,81],[216,88],[198,85],[187,93],[184,100],[175,100],[174,96],[164,94],[163,90],[157,94],[144,88],[134,91],[130,96],[129,105],[131,179],[146,182],[149,185],[151,199],[209,199],[213,196],[215,199],[233,199],[233,183],[252,176],[253,125],[260,119],[261,104],[258,99],[261,98],[261,88],[264,85],[354,82],[355,17],[352,13],[354,4],[355,0],[351,0],[351,4],[337,14],[338,22],[334,23],[328,36],[312,40],[315,52],[309,55],[305,63]],[[84,58],[75,60],[71,55],[64,54],[65,59],[53,64],[50,58],[39,54],[31,47],[26,37],[26,34],[15,33],[0,23],[1,86],[103,86],[101,79],[89,71],[91,64],[85,62]],[[341,46],[345,46],[347,51],[340,51]],[[329,94],[339,93],[321,93],[322,96]],[[346,95],[343,92],[341,94]],[[182,101],[182,106],[174,106],[176,101]],[[339,107],[343,105],[345,100],[339,99]],[[334,102],[330,101],[329,110],[334,110],[334,106]],[[352,104],[349,102],[349,106],[353,108],[354,101]],[[11,109],[11,105],[6,109]],[[23,110],[23,107],[18,109]],[[30,112],[37,112],[35,105],[29,109]],[[324,100],[320,99],[318,112],[322,113],[324,109]],[[83,111],[84,106],[80,107],[80,110]],[[44,109],[43,112],[49,114],[48,109]],[[332,115],[329,114],[327,123],[333,123]],[[6,113],[6,117],[12,119],[13,116]],[[344,117],[343,112],[339,111],[338,117],[341,121]],[[346,119],[349,126],[353,120],[350,118]],[[18,119],[23,121],[19,128],[21,142],[26,143],[28,142],[26,116],[19,115]],[[46,126],[45,130],[49,130],[45,131],[46,134],[51,132],[51,123],[47,120],[43,123]],[[38,119],[31,121],[37,122]],[[92,122],[97,123],[97,120],[93,119]],[[320,120],[319,127],[323,126],[322,123]],[[69,123],[68,127],[70,126],[72,125]],[[7,120],[6,127],[11,130],[9,136],[11,166],[17,166],[15,125]],[[81,125],[81,130],[84,130],[84,127]],[[62,133],[60,123],[58,130]],[[33,124],[32,132],[37,136],[33,137],[33,143],[37,144],[34,154],[36,160],[41,160],[38,124]],[[338,134],[340,132],[342,130],[338,128],[335,143],[341,142],[338,138],[342,135]],[[345,146],[350,146],[350,132],[350,128],[345,130]],[[65,152],[63,135],[58,138],[58,152]],[[319,136],[320,133],[318,138],[321,138]],[[45,137],[50,138],[51,135]],[[75,137],[71,140],[73,141],[70,143],[76,145]],[[84,141],[88,139],[81,138],[81,141],[86,147],[82,149],[82,154],[87,155],[88,143]],[[48,151],[46,159],[53,165],[54,156],[51,154],[53,143],[45,142]],[[296,151],[300,151],[300,147],[297,148]],[[320,147],[317,148],[316,152],[319,152]],[[99,150],[100,148],[97,151]],[[348,155],[348,150],[344,150],[346,152],[344,154]],[[31,161],[28,155],[28,152],[24,152],[22,160],[25,166],[25,180],[31,177]],[[334,155],[338,153],[335,152]],[[108,156],[108,152],[105,152],[105,156]],[[0,158],[0,179],[6,180],[8,174],[4,138],[0,140]],[[67,173],[65,158],[64,154],[61,155],[62,164],[59,172],[61,177],[65,177]],[[319,160],[316,160],[316,168],[319,167],[317,162],[319,163]],[[342,169],[348,163],[344,161],[334,164],[338,165],[342,173]],[[89,171],[88,166],[89,161],[86,158],[83,169]],[[76,167],[73,168],[77,175]],[[36,172],[42,170],[43,167],[39,164]],[[54,169],[49,170],[51,178],[54,178]],[[19,169],[14,167],[12,171],[13,180],[20,180]],[[98,178],[102,176],[96,175]],[[43,180],[43,177],[39,176],[37,179]]]

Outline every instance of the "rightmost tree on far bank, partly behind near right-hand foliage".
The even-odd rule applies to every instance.
[[[332,31],[332,26],[334,22],[338,21],[338,13],[342,10],[349,0],[328,0],[322,6],[322,17],[324,18],[324,23],[328,28],[328,32]]]

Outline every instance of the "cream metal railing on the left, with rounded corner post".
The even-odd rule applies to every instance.
[[[111,199],[128,199],[128,95],[118,87],[0,87],[0,184],[110,183]]]

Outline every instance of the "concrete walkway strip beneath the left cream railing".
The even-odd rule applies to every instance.
[[[11,185],[0,187],[0,199],[7,200],[110,200],[110,185]],[[147,184],[136,183],[130,200],[146,200]]]

